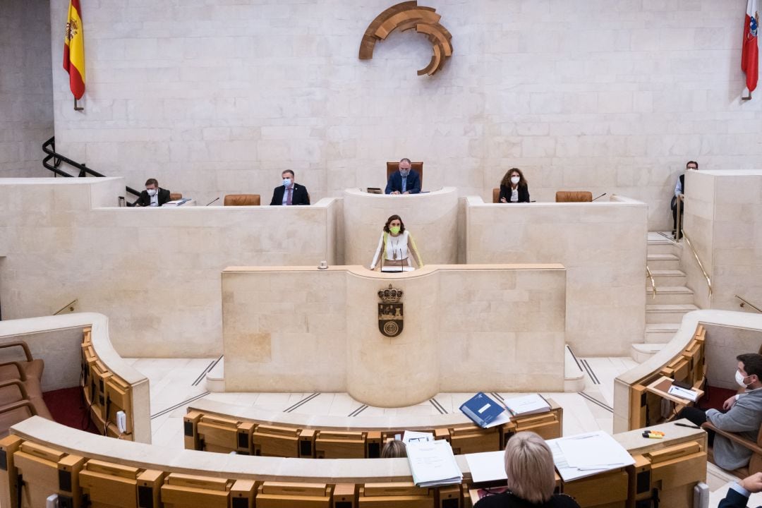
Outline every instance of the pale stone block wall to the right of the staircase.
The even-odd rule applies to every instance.
[[[685,228],[712,280],[712,308],[738,310],[739,295],[762,305],[762,171],[697,171],[687,179]],[[695,203],[695,205],[694,205]],[[708,307],[703,274],[687,246],[689,286]]]

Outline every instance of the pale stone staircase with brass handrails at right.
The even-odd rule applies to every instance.
[[[656,298],[646,277],[645,342],[632,344],[630,351],[636,362],[642,363],[661,350],[677,332],[683,316],[698,309],[680,270],[682,247],[658,233],[648,233],[648,267],[656,283]]]

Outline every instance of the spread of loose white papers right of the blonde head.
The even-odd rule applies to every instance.
[[[603,430],[549,439],[555,468],[564,481],[635,464],[635,459]]]

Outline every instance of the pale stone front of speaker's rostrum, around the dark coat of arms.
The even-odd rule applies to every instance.
[[[381,407],[440,391],[563,391],[559,264],[229,267],[226,391],[347,391]],[[379,289],[405,293],[398,337],[378,329]]]

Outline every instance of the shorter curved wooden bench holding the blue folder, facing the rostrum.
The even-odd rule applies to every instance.
[[[184,417],[185,448],[292,458],[379,458],[387,439],[405,430],[447,439],[456,455],[494,452],[522,430],[545,439],[560,437],[563,408],[513,418],[490,429],[464,414],[431,417],[328,417],[261,411],[216,401],[195,401]]]

